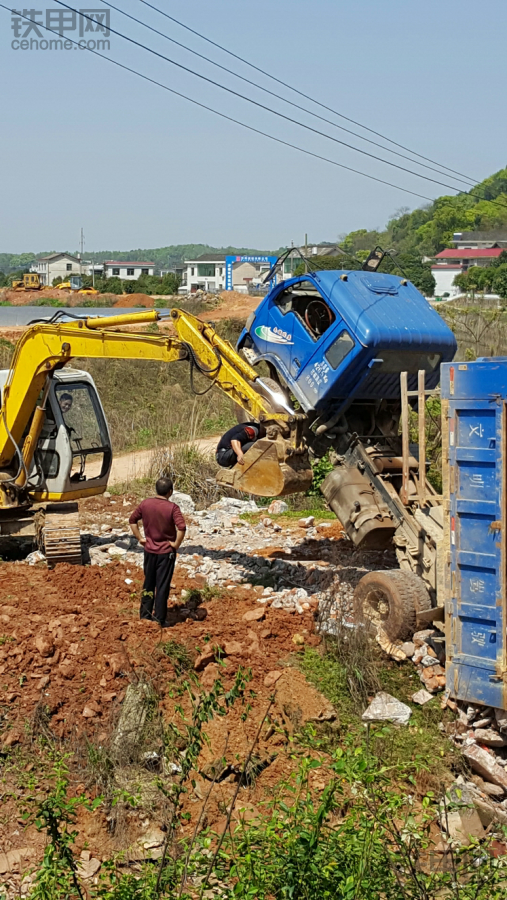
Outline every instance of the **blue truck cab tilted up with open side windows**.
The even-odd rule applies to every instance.
[[[396,400],[399,373],[438,384],[456,339],[405,278],[340,270],[308,272],[276,285],[247,320],[238,344],[253,365],[282,376],[305,412],[327,413],[353,397]]]

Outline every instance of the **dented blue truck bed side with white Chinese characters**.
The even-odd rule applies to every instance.
[[[507,358],[442,366],[447,689],[507,709]]]

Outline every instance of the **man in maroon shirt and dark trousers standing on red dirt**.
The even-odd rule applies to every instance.
[[[176,553],[187,526],[179,506],[171,502],[172,480],[159,478],[155,489],[157,496],[143,500],[132,513],[129,524],[134,537],[144,547],[140,617],[158,622],[164,628]],[[139,531],[141,520],[144,538]]]

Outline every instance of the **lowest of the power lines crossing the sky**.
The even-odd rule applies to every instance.
[[[12,13],[12,10],[8,6],[5,6],[3,3],[0,3],[0,8],[5,9],[8,13]],[[24,14],[21,14],[19,12],[17,13],[17,15],[21,19],[26,19],[27,22],[33,21],[33,19],[30,19],[29,16],[25,16]],[[54,34],[57,37],[61,38],[61,34],[58,31],[55,31],[53,28],[48,28],[46,25],[42,25],[41,23],[37,23],[37,27],[43,28],[44,31],[49,31],[51,34]],[[275,135],[269,134],[267,131],[262,131],[260,128],[255,128],[253,125],[247,125],[246,122],[242,122],[241,119],[235,119],[233,116],[228,116],[226,113],[220,112],[220,110],[215,109],[212,106],[201,103],[199,100],[195,100],[193,97],[189,97],[187,96],[187,94],[181,93],[181,91],[177,91],[174,88],[170,88],[166,84],[162,84],[162,82],[157,81],[155,78],[150,78],[149,75],[144,75],[142,72],[138,72],[136,69],[133,69],[130,66],[125,65],[124,63],[118,62],[118,60],[116,59],[111,59],[111,57],[106,56],[104,53],[99,53],[98,50],[92,50],[91,47],[88,46],[83,47],[83,45],[78,43],[78,41],[74,41],[69,37],[66,37],[65,40],[70,41],[76,47],[80,47],[81,49],[87,50],[89,53],[93,53],[94,56],[99,56],[101,59],[105,59],[106,62],[117,66],[119,69],[124,69],[126,72],[131,72],[133,75],[137,75],[144,81],[148,81],[150,82],[150,84],[155,84],[157,85],[157,87],[160,87],[163,90],[174,94],[176,97],[181,97],[183,100],[187,100],[189,103],[193,103],[194,106],[198,106],[200,107],[200,109],[205,109],[207,110],[207,112],[212,112],[214,113],[214,115],[220,116],[221,119],[225,119],[228,122],[233,122],[235,125],[240,125],[242,128],[246,128],[247,131],[252,131],[254,134],[260,134],[262,137],[266,137],[270,141],[274,141],[277,144],[282,144],[284,147],[290,147],[292,150],[297,150],[299,153],[304,153],[306,156],[311,156],[314,159],[319,159],[322,162],[329,163],[332,166],[337,166],[340,169],[345,169],[347,172],[353,172],[355,175],[362,175],[363,178],[368,178],[370,181],[376,181],[378,184],[387,185],[387,187],[395,188],[395,190],[403,191],[403,193],[405,194],[411,194],[413,197],[419,197],[421,200],[427,200],[430,203],[434,202],[433,197],[426,197],[425,194],[419,194],[417,191],[411,191],[409,188],[401,187],[401,185],[399,184],[393,184],[391,181],[385,181],[383,178],[377,178],[376,175],[369,175],[367,172],[362,172],[360,169],[354,169],[351,166],[346,166],[344,163],[340,163],[335,159],[329,159],[327,156],[322,156],[319,153],[314,153],[312,150],[306,150],[304,147],[299,147],[297,144],[293,144],[290,141],[284,141],[282,138],[275,137]]]

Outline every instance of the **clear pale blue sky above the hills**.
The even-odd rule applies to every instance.
[[[46,10],[61,10],[56,0],[45,2],[36,16],[43,23]],[[480,8],[471,0],[150,2],[335,112],[440,165],[480,181],[507,163],[501,99],[505,0],[486,0]],[[106,57],[251,128],[396,187],[248,131],[88,50],[13,46],[21,43],[28,24],[16,23],[12,4],[5,6],[8,11],[0,8],[0,252],[75,251],[81,228],[85,256],[86,250],[183,243],[275,249],[303,243],[305,233],[310,242],[334,241],[356,228],[381,228],[401,207],[413,209],[427,202],[423,198],[453,193],[451,186],[466,189],[449,173],[392,156],[239,81],[114,9],[111,29],[336,140],[233,96],[117,34],[110,35]],[[115,6],[385,144],[210,46],[143,0],[115,0]],[[93,8],[108,7],[95,0]],[[43,40],[54,37],[40,31]],[[66,35],[80,40],[77,29]],[[34,30],[29,37],[37,40]],[[99,38],[103,35],[83,36]]]

